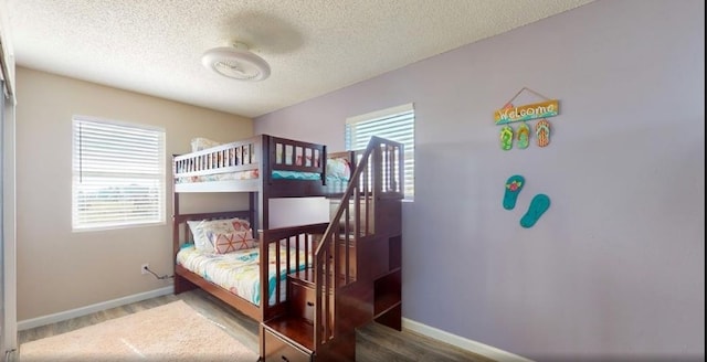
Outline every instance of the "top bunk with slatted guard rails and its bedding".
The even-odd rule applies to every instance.
[[[172,159],[173,190],[258,192],[265,198],[329,196],[346,191],[352,151],[328,153],[325,145],[257,135]]]

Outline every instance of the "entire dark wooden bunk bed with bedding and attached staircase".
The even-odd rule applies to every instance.
[[[268,135],[175,156],[175,294],[201,288],[261,322],[265,361],[352,361],[354,328],[400,329],[402,159],[402,145],[376,137],[328,153]],[[179,195],[194,192],[247,192],[250,207],[180,213]],[[270,227],[270,199],[304,196],[336,200],[330,222]]]

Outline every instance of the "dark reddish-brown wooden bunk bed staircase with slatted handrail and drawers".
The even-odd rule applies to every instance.
[[[287,276],[287,310],[263,322],[264,361],[354,361],[356,328],[400,330],[402,145],[373,137],[333,219],[314,267]],[[359,263],[360,262],[360,263]]]

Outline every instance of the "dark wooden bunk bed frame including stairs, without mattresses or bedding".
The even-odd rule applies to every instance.
[[[299,151],[276,151],[283,147]],[[241,158],[233,160],[230,155]],[[310,157],[310,162],[295,159],[303,155]],[[293,257],[310,265],[295,270],[289,269],[289,259],[286,260],[286,298],[281,298],[283,286],[276,283],[274,304],[264,297],[272,287],[267,268],[261,267],[263,297],[260,305],[254,305],[175,264],[176,294],[199,287],[261,322],[262,360],[354,361],[355,328],[370,321],[401,328],[403,146],[373,137],[365,151],[338,156],[347,157],[351,163],[360,159],[346,188],[327,184],[326,146],[267,135],[173,159],[175,257],[183,242],[190,239],[187,221],[240,217],[257,225],[261,266],[279,265],[279,253],[274,254],[275,260],[268,260],[268,251],[282,247],[293,247],[297,251]],[[179,178],[220,170],[254,169],[260,172],[256,180],[215,181],[208,185],[177,182]],[[281,180],[271,177],[273,170],[315,172],[320,178]],[[182,192],[250,192],[250,210],[180,214]],[[335,198],[331,222],[268,228],[270,198],[297,196]]]

